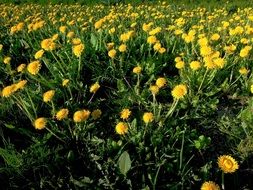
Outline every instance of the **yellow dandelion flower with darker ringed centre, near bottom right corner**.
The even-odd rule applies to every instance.
[[[228,155],[218,158],[218,166],[224,173],[233,173],[239,168],[237,161]]]

